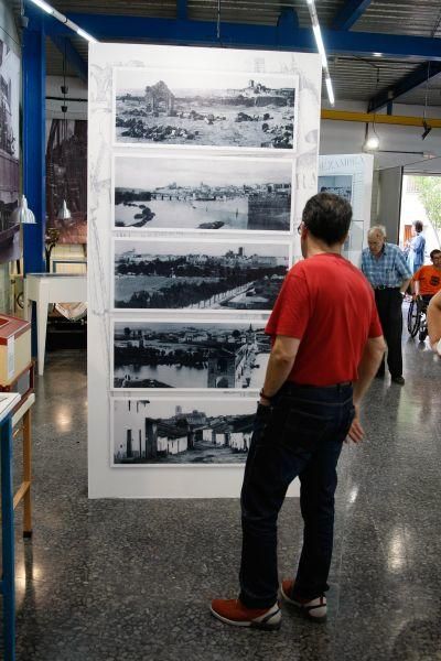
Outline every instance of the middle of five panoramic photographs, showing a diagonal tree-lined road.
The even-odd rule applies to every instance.
[[[272,310],[290,245],[115,240],[115,308]]]

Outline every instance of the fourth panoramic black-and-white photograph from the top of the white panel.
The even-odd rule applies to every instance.
[[[259,389],[265,322],[115,322],[114,389]]]

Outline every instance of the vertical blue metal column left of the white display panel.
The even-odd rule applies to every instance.
[[[24,273],[45,271],[46,225],[46,44],[44,21],[32,21],[23,30],[23,193],[35,214],[36,225],[23,226]]]

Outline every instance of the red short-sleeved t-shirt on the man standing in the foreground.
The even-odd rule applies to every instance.
[[[266,333],[301,340],[288,380],[311,386],[355,381],[367,338],[383,335],[368,281],[330,252],[292,267]]]

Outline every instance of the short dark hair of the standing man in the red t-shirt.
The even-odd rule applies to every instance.
[[[340,195],[319,193],[303,209],[302,220],[313,237],[327,246],[342,243],[352,220],[352,206]]]

